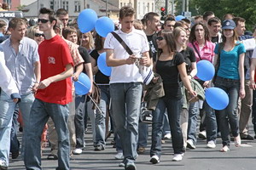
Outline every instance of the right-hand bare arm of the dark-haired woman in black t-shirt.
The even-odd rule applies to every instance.
[[[180,77],[183,81],[183,84],[185,86],[185,88],[188,89],[189,93],[192,94],[193,96],[196,96],[196,92],[192,89],[190,81],[189,81],[189,77],[187,75],[187,71],[186,71],[186,66],[185,63],[183,62],[183,64],[181,65],[177,65],[177,70],[180,74]]]

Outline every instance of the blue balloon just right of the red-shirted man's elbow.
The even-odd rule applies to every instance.
[[[88,94],[91,86],[90,78],[86,74],[84,74],[84,72],[81,72],[81,74],[79,75],[79,80],[77,82],[74,82],[74,86],[76,94]]]

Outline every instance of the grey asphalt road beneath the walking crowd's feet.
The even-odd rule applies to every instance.
[[[251,127],[253,129],[253,127]],[[251,133],[254,136],[254,133]],[[20,136],[20,135],[19,135]],[[108,139],[105,150],[94,151],[91,140],[91,131],[85,135],[86,147],[79,156],[72,156],[71,169],[73,170],[117,170],[124,169],[119,167],[119,160],[115,160],[116,154],[113,145],[110,144],[113,135]],[[150,136],[150,135],[149,135]],[[143,155],[137,157],[137,170],[254,170],[256,169],[256,139],[242,140],[241,147],[236,148],[234,143],[230,146],[230,151],[222,153],[221,139],[217,140],[215,149],[207,149],[206,140],[198,139],[195,150],[186,150],[183,161],[172,161],[173,150],[172,141],[166,140],[162,146],[162,156],[160,163],[153,165],[149,162],[150,137],[148,139],[148,147]],[[57,161],[47,160],[49,148],[43,150],[42,167],[50,170],[57,167]],[[10,158],[9,169],[22,170],[25,169],[23,161]]]

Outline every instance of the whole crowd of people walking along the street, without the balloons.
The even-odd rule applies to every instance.
[[[206,139],[209,149],[216,147],[217,138],[222,139],[221,152],[230,150],[230,138],[236,147],[241,139],[253,140],[248,121],[253,113],[256,133],[256,29],[245,32],[245,19],[225,14],[220,20],[211,11],[193,23],[169,14],[161,24],[154,12],[135,20],[135,14],[134,8],[120,8],[119,24],[107,37],[79,31],[63,8],[56,13],[41,8],[37,26],[20,18],[0,20],[1,170],[8,169],[10,153],[12,159],[21,156],[26,169],[41,169],[48,141],[47,159],[58,160],[56,169],[69,169],[70,157],[86,147],[87,117],[95,150],[105,150],[113,132],[119,167],[136,170],[137,156],[148,145],[142,106],[152,114],[148,161],[153,164],[160,163],[165,139],[172,139],[172,161],[182,161],[187,149],[195,150],[198,116],[198,138]],[[97,65],[103,53],[112,67],[110,77]],[[196,77],[201,60],[215,66],[211,81]],[[148,81],[151,76],[143,75],[143,69],[154,77]],[[90,89],[78,95],[74,82],[82,72]],[[228,94],[224,110],[207,104],[204,89],[211,87]]]

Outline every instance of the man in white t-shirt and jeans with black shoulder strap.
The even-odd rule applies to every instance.
[[[143,77],[135,62],[140,58],[138,65],[150,65],[147,37],[143,31],[134,29],[134,18],[134,8],[122,7],[119,10],[121,27],[114,31],[131,48],[132,55],[112,33],[108,34],[104,43],[107,65],[112,66],[109,83],[113,123],[121,139],[126,170],[136,169],[134,161],[137,158],[138,120],[143,94]]]

